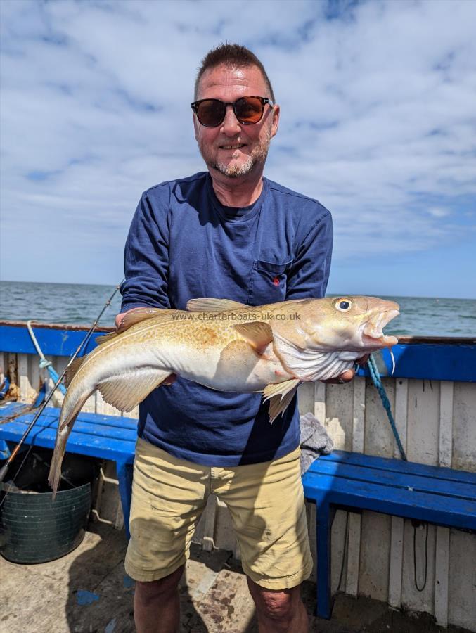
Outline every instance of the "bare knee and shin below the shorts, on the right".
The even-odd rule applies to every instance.
[[[247,578],[255,601],[259,633],[307,633],[309,621],[301,600],[301,586],[292,589],[264,589]]]

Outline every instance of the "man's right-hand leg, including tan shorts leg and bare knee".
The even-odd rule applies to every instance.
[[[300,584],[313,563],[299,449],[266,463],[212,468],[212,488],[231,513],[260,633],[307,632]]]

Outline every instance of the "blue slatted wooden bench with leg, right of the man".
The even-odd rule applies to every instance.
[[[335,451],[316,459],[302,478],[316,503],[317,608],[330,618],[330,530],[337,508],[371,510],[476,530],[476,473]]]

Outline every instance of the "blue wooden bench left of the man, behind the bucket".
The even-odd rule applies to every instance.
[[[8,418],[17,413],[18,406],[18,403],[12,403],[0,407],[0,444],[2,440],[18,442],[33,419],[34,414],[30,413],[2,423],[1,418]],[[28,435],[26,443],[53,449],[59,416],[60,409],[46,407]],[[66,445],[67,452],[70,453],[115,461],[127,537],[129,537],[132,466],[136,437],[137,420],[133,418],[80,413]],[[3,455],[6,457],[8,447],[3,448]],[[17,459],[21,459],[20,456]]]

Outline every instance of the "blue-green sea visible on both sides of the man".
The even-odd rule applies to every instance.
[[[91,325],[114,292],[114,286],[82,283],[0,281],[0,320]],[[387,334],[476,337],[476,300],[443,297],[387,297],[400,305],[400,315]],[[99,325],[114,325],[121,296],[115,293]]]

